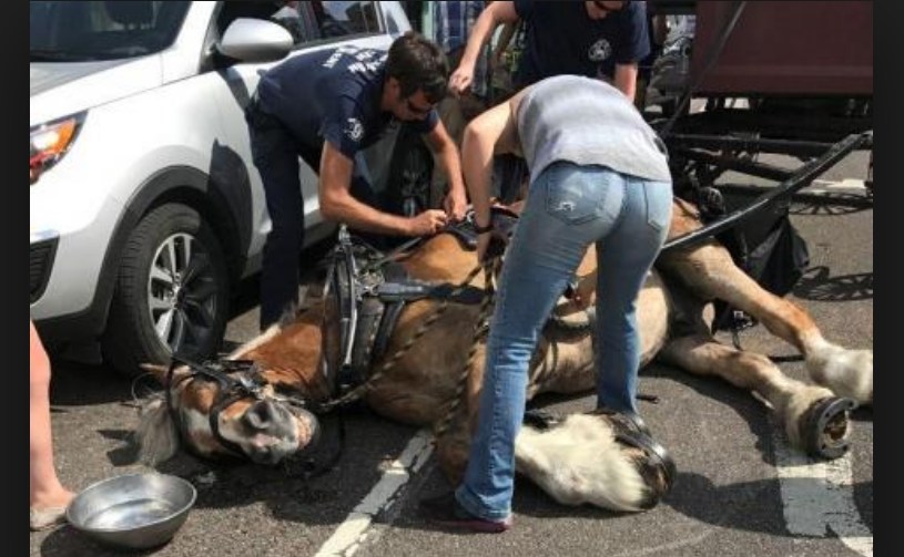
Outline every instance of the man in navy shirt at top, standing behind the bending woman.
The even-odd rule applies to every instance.
[[[606,80],[633,101],[638,62],[650,52],[646,8],[641,1],[492,2],[474,25],[449,84],[453,91],[466,91],[481,47],[496,28],[524,21],[516,91],[545,78],[572,74]]]

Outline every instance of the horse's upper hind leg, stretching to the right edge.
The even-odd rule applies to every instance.
[[[850,350],[827,341],[810,313],[756,283],[715,241],[663,252],[657,265],[702,299],[721,299],[754,318],[803,354],[816,383],[859,404],[873,402],[873,351]]]

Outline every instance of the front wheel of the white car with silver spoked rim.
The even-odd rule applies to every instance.
[[[228,275],[220,241],[191,207],[162,205],[129,237],[116,276],[104,359],[126,375],[176,353],[216,353],[228,318]]]

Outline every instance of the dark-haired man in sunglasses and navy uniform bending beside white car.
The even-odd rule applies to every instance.
[[[421,236],[460,219],[467,206],[458,149],[435,105],[446,95],[448,65],[439,48],[415,32],[389,51],[341,47],[292,58],[261,79],[246,110],[254,164],[273,229],[264,246],[261,329],[297,301],[304,203],[298,157],[318,171],[324,218],[390,236]],[[413,217],[379,209],[362,151],[393,122],[412,126],[449,178],[444,209]]]

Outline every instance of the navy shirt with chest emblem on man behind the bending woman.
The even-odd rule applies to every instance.
[[[617,63],[637,63],[650,52],[641,1],[598,20],[590,19],[585,2],[576,1],[515,0],[515,11],[527,25],[517,89],[561,74],[611,79]]]

